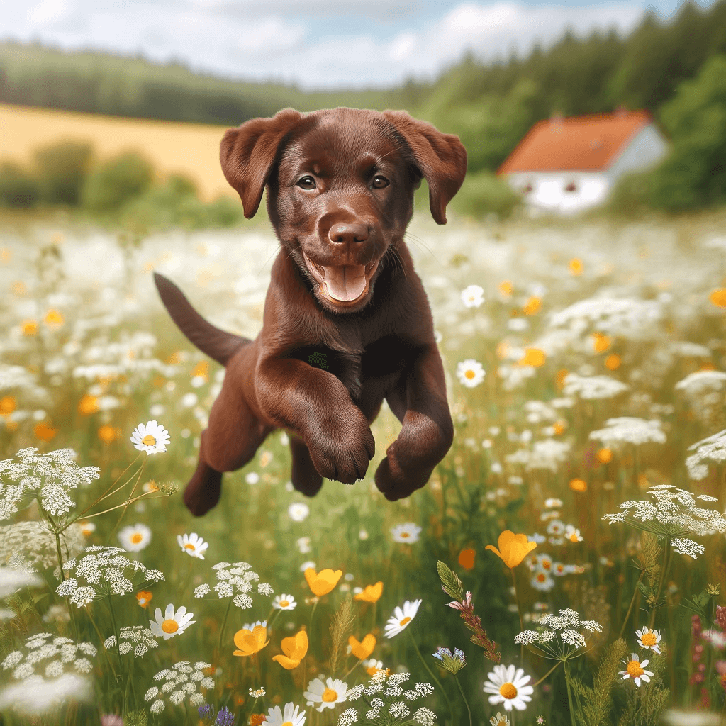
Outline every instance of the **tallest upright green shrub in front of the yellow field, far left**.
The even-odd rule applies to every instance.
[[[92,159],[91,144],[86,142],[62,142],[36,151],[41,200],[78,205]]]

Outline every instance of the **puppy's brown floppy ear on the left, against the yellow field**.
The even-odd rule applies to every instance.
[[[260,205],[280,142],[301,118],[298,111],[285,108],[272,118],[253,118],[224,134],[219,161],[227,181],[240,195],[247,219],[255,216]]]

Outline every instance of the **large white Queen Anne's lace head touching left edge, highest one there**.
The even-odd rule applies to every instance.
[[[65,517],[76,507],[69,492],[99,478],[98,467],[76,464],[73,449],[38,454],[31,446],[20,449],[16,456],[20,461],[0,461],[0,521],[38,499],[46,515],[65,523]]]

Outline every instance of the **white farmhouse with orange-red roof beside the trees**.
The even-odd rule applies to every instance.
[[[532,126],[497,175],[533,211],[574,213],[602,204],[623,174],[656,166],[668,152],[647,111],[555,116]]]

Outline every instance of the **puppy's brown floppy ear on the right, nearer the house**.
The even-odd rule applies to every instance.
[[[458,136],[442,134],[431,123],[405,111],[383,111],[413,152],[416,166],[428,183],[428,200],[436,224],[446,224],[446,205],[466,176],[466,150]]]

